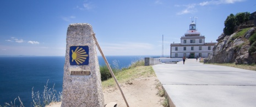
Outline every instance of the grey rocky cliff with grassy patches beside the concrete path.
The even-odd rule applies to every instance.
[[[253,25],[252,25],[253,26]],[[256,52],[249,53],[251,47],[250,36],[256,33],[256,27],[239,29],[232,35],[222,33],[213,48],[213,53],[205,59],[205,63],[236,63],[253,64],[256,63]]]

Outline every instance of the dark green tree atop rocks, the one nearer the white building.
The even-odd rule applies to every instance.
[[[227,16],[227,19],[224,22],[224,29],[223,32],[225,35],[231,35],[234,32],[234,28],[236,26],[236,17],[234,14],[230,14]]]

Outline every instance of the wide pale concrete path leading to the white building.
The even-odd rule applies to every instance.
[[[256,71],[203,64],[154,65],[172,103],[177,106],[256,106]]]

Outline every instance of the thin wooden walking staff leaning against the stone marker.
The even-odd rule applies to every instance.
[[[105,60],[105,63],[106,63],[106,65],[107,65],[107,67],[108,67],[108,70],[110,70],[110,73],[111,73],[112,77],[114,78],[114,80],[115,80],[115,82],[116,82],[116,84],[117,84],[117,87],[119,88],[119,90],[120,90],[120,92],[121,92],[121,94],[122,94],[122,96],[123,96],[124,102],[126,102],[126,105],[129,106],[128,103],[127,103],[127,101],[126,101],[126,97],[124,97],[123,91],[122,91],[121,87],[119,86],[119,83],[117,82],[117,79],[116,79],[115,75],[113,74],[113,71],[112,71],[112,69],[111,69],[111,67],[110,67],[110,64],[108,64],[107,59],[106,59],[105,55],[103,54],[103,52],[102,52],[102,50],[101,50],[101,48],[100,48],[100,44],[98,43],[98,41],[97,41],[97,39],[96,39],[95,33],[92,34],[92,36],[94,37],[94,41],[95,41],[95,43],[96,43],[98,49],[100,50],[100,53],[101,53],[101,55],[102,55],[102,58]]]

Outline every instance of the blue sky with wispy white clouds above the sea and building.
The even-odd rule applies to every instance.
[[[196,16],[205,42],[216,42],[231,13],[254,0],[0,1],[0,55],[64,56],[69,24],[89,23],[105,55],[170,55]],[[100,53],[97,53],[100,55]]]

